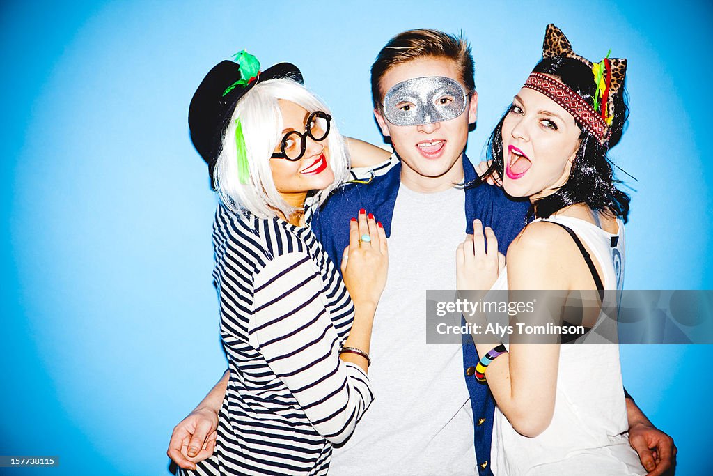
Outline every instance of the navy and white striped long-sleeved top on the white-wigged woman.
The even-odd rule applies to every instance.
[[[220,335],[230,382],[215,453],[200,475],[324,475],[374,396],[339,359],[354,305],[309,227],[241,218],[213,225]]]

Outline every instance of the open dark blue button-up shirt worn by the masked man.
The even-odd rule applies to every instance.
[[[465,154],[463,154],[463,172],[465,183],[476,179],[475,169]],[[349,183],[342,188],[337,188],[322,208],[314,213],[312,230],[322,242],[329,258],[337,263],[337,268],[342,264],[342,252],[349,244],[349,220],[357,216],[360,208],[374,213],[374,216],[384,225],[386,236],[391,236],[391,218],[394,215],[394,204],[400,183],[401,163],[398,163],[385,175],[375,177],[370,183]],[[499,250],[503,254],[506,253],[513,238],[525,226],[529,201],[513,201],[503,193],[501,188],[485,183],[466,188],[465,193],[466,233],[473,233],[473,220],[479,218],[483,226],[493,228],[498,238]],[[482,476],[492,476],[489,460],[495,401],[488,385],[478,383],[474,376],[473,371],[478,360],[473,340],[469,335],[464,335],[463,378],[466,379],[468,393],[471,395],[478,472]]]

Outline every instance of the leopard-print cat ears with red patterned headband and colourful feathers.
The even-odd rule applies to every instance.
[[[572,45],[565,34],[555,25],[549,24],[545,31],[543,58],[565,56],[582,61],[592,69],[593,81],[597,91],[593,102],[585,101],[575,91],[550,76],[532,73],[525,82],[526,88],[532,88],[545,94],[565,108],[578,119],[600,143],[606,143],[610,136],[610,126],[614,114],[614,98],[621,93],[626,75],[626,59],[607,57],[600,63],[592,63],[572,51]]]

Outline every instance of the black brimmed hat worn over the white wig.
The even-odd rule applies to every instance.
[[[213,66],[196,89],[188,108],[188,127],[193,146],[208,164],[211,184],[215,159],[220,152],[220,137],[230,121],[237,101],[260,81],[277,78],[302,83],[302,73],[294,64],[279,63],[257,73],[253,78],[242,78],[240,65],[225,60]],[[235,86],[240,79],[249,82]]]

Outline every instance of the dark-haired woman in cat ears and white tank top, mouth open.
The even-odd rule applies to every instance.
[[[621,289],[630,203],[607,158],[627,118],[625,71],[625,59],[578,56],[549,25],[543,59],[491,136],[492,171],[509,195],[529,198],[534,220],[508,248],[507,266],[496,236],[476,221],[458,247],[458,289],[509,290],[511,301],[516,290],[565,290],[547,295],[562,328],[573,295],[595,302],[573,336],[588,345],[561,345],[565,335],[556,335],[537,345],[511,338],[508,348],[474,335],[483,356],[476,377],[498,405],[496,475],[646,474],[627,439],[618,346],[602,343],[613,322],[604,310],[616,308]]]

